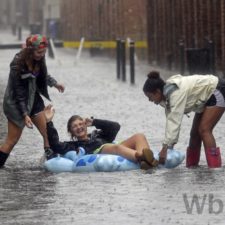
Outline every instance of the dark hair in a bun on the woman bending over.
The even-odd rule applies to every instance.
[[[160,77],[159,72],[151,71],[147,76],[148,78],[144,83],[143,92],[154,93],[157,89],[163,92],[165,81]]]

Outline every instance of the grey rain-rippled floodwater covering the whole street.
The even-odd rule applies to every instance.
[[[2,98],[8,67],[15,50],[0,50],[0,142],[6,134]],[[57,49],[57,60],[47,58],[49,73],[66,85],[59,94],[50,89],[56,109],[54,118],[60,138],[69,140],[67,119],[72,114],[116,120],[118,139],[136,132],[146,134],[153,149],[161,147],[164,111],[150,104],[142,93],[145,74],[152,68],[138,62],[136,84],[116,79],[115,62],[90,58],[75,50]],[[128,72],[129,72],[129,68]],[[168,75],[168,71],[163,71]],[[129,81],[129,77],[127,77]],[[46,101],[46,104],[49,102]],[[176,149],[185,151],[191,118],[184,117]],[[215,129],[225,161],[225,117]],[[201,166],[186,169],[136,170],[113,173],[51,174],[42,168],[42,139],[37,129],[25,129],[0,170],[1,225],[137,225],[224,224],[224,167],[210,170],[202,154]]]

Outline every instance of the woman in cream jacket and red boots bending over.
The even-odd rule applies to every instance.
[[[225,110],[225,81],[214,75],[171,76],[166,82],[159,72],[152,71],[143,91],[149,101],[165,107],[166,130],[160,163],[164,163],[167,149],[177,143],[183,115],[195,112],[187,148],[186,166],[197,166],[201,142],[208,166],[221,167],[220,149],[216,146],[213,128]]]

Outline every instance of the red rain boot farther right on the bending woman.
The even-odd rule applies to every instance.
[[[206,160],[209,168],[221,167],[220,148],[207,148],[205,149]]]

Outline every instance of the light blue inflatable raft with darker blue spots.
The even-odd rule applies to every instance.
[[[154,152],[156,159],[158,152]],[[159,168],[175,168],[184,160],[184,154],[176,150],[168,150],[165,165]],[[85,150],[80,148],[79,154],[75,151],[50,159],[44,163],[49,172],[113,172],[140,169],[139,164],[131,162],[118,155],[91,154],[85,155]]]

